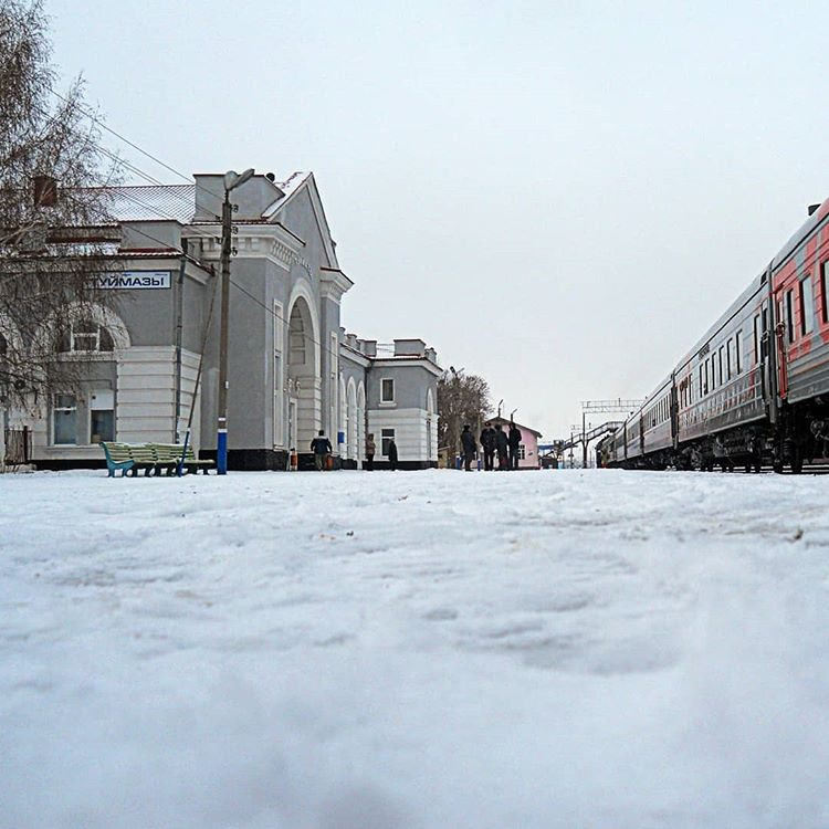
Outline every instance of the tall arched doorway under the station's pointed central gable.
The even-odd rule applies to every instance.
[[[307,452],[319,429],[319,337],[307,301],[298,296],[287,326],[288,448]]]

